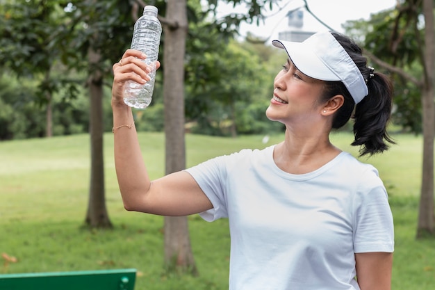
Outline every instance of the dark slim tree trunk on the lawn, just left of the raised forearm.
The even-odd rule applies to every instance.
[[[92,47],[88,51],[90,77],[90,190],[85,223],[90,227],[112,227],[104,196],[103,157],[103,74],[99,70],[101,56]]]

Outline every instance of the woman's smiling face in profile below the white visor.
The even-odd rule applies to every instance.
[[[288,59],[274,79],[273,97],[266,115],[284,124],[309,124],[318,120],[322,117],[318,100],[323,88],[324,81],[302,74]]]

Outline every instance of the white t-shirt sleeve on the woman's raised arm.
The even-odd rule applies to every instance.
[[[228,217],[225,201],[225,179],[227,178],[225,164],[227,158],[228,156],[215,157],[185,170],[192,175],[208,200],[213,204],[213,209],[199,214],[208,222]]]

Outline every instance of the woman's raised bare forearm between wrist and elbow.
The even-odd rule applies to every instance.
[[[149,190],[150,180],[128,106],[113,105],[115,170],[124,207],[136,210]]]

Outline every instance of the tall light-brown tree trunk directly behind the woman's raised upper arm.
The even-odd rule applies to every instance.
[[[163,25],[163,102],[165,104],[165,172],[186,168],[184,140],[184,54],[188,30],[186,0],[168,0],[166,17],[177,27]],[[165,263],[168,270],[197,273],[190,248],[188,220],[165,217]]]

